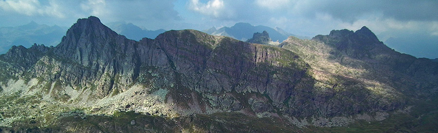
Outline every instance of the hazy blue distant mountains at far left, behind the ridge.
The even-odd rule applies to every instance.
[[[34,21],[22,26],[0,27],[0,54],[5,53],[13,45],[22,45],[26,48],[34,43],[56,46],[61,42],[67,29],[57,25],[37,24]]]

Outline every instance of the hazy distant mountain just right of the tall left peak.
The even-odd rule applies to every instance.
[[[126,38],[136,41],[141,40],[144,37],[154,39],[157,35],[166,31],[164,29],[150,31],[145,28],[140,28],[132,23],[125,22],[114,22],[107,25],[116,33],[125,35]]]

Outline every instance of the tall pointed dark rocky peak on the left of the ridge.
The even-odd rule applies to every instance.
[[[133,43],[100,22],[97,17],[78,19],[67,31],[55,54],[71,59],[86,67],[110,64],[122,45]]]

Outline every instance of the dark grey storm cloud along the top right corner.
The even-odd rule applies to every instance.
[[[304,6],[297,8],[305,10],[307,15],[328,13],[350,22],[367,15],[381,15],[402,21],[438,20],[437,0],[318,0],[302,2],[298,6]]]

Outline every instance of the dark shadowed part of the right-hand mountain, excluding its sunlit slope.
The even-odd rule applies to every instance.
[[[409,90],[406,95],[416,92],[417,95],[427,96],[438,90],[438,83],[433,82],[438,80],[438,63],[391,50],[365,26],[354,33],[332,31],[326,36],[315,36],[313,40],[325,42],[336,49],[330,51],[332,60],[345,66],[366,69],[370,78],[382,83],[391,81],[390,84],[395,83],[392,87],[400,91]]]

